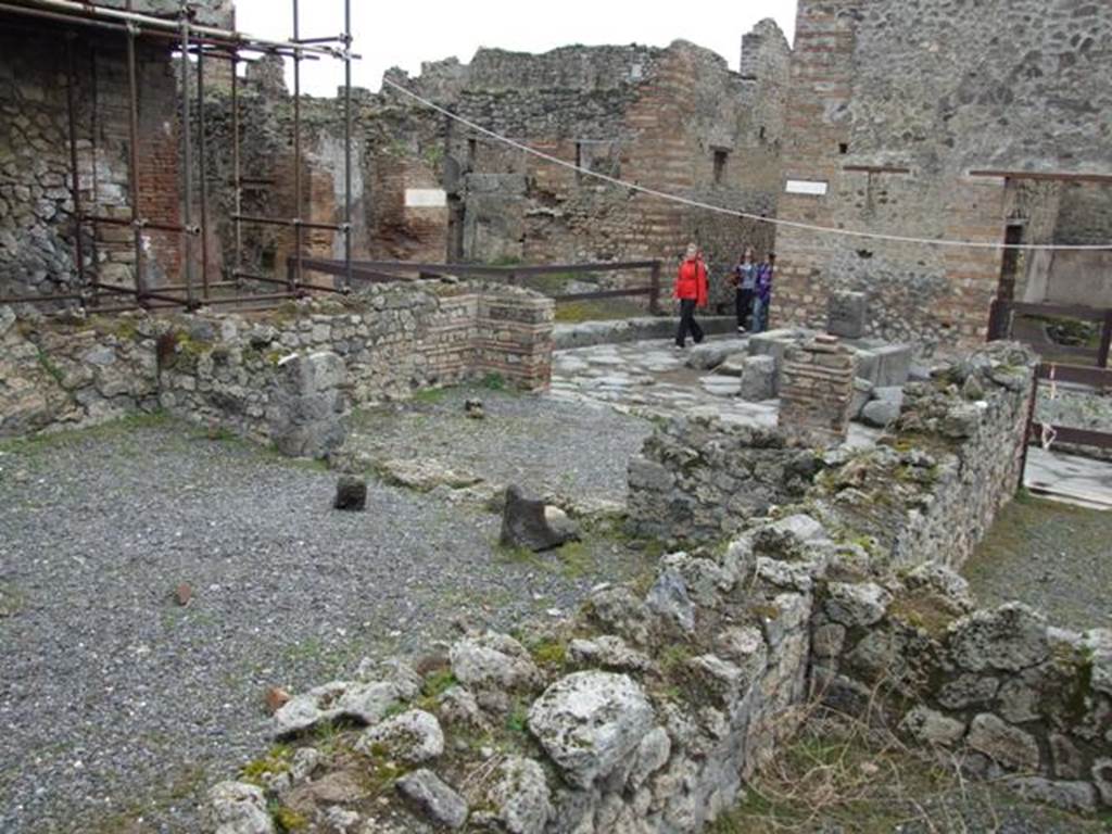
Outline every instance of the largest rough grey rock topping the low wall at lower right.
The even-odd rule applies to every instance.
[[[1046,622],[1020,603],[976,612],[950,626],[950,654],[971,672],[1019,672],[1050,654]]]

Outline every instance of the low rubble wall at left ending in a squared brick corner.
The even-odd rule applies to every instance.
[[[550,377],[552,300],[517,288],[388,285],[249,316],[68,315],[0,312],[0,436],[161,407],[266,440],[419,388]]]

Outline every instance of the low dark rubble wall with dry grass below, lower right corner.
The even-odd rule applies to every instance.
[[[911,739],[1030,798],[1112,805],[1112,632],[1052,628],[1019,603],[975,612],[935,563],[818,596],[816,694],[853,713],[883,704]]]

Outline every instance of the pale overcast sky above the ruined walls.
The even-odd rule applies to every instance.
[[[794,37],[795,0],[686,0],[655,6],[641,0],[353,0],[355,85],[377,90],[383,72],[401,67],[410,75],[421,61],[455,56],[468,62],[479,47],[545,52],[572,43],[645,43],[665,47],[677,38],[721,53],[737,69],[742,34],[762,18],[774,18],[788,41]],[[238,27],[260,38],[286,39],[292,32],[289,0],[236,0]],[[337,34],[344,29],[342,0],[301,0],[301,37]],[[307,62],[306,92],[334,95],[342,66]]]

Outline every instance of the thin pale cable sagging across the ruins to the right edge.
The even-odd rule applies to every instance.
[[[528,145],[510,139],[509,137],[502,136],[495,131],[477,125],[476,122],[467,119],[458,113],[448,110],[445,107],[437,105],[434,101],[429,101],[423,96],[417,95],[413,90],[403,87],[396,81],[391,81],[389,78],[384,77],[383,83],[387,87],[397,90],[404,96],[408,96],[414,101],[419,105],[435,110],[443,116],[453,119],[454,121],[470,128],[471,130],[487,136],[498,142],[508,145],[512,148],[516,148],[525,153],[529,153],[538,159],[543,159],[546,162],[560,166],[562,168],[567,168],[568,170],[575,171],[576,173],[583,175],[584,177],[593,177],[595,179],[602,180],[603,182],[609,182],[613,186],[618,186],[619,188],[625,188],[631,191],[637,191],[639,193],[648,195],[651,197],[657,197],[662,200],[668,200],[671,202],[676,202],[682,206],[688,206],[689,208],[702,209],[705,211],[713,211],[719,215],[728,215],[731,217],[738,217],[745,220],[754,220],[756,222],[770,224],[772,226],[782,226],[791,229],[801,229],[803,231],[813,231],[821,235],[837,235],[842,237],[858,238],[865,240],[886,240],[895,244],[920,244],[923,246],[940,246],[950,248],[962,248],[962,249],[1017,249],[1025,251],[1042,250],[1042,251],[1112,251],[1112,242],[1110,244],[1095,244],[1095,245],[1055,245],[1055,244],[1005,244],[1005,242],[990,242],[985,240],[950,240],[946,238],[922,238],[909,235],[885,235],[883,232],[875,231],[856,231],[854,229],[836,229],[831,226],[817,226],[815,224],[805,224],[797,220],[784,220],[776,217],[764,217],[762,215],[754,215],[748,211],[738,211],[737,209],[726,208],[724,206],[715,206],[709,202],[703,202],[701,200],[693,200],[687,197],[681,197],[679,195],[668,193],[666,191],[658,191],[655,188],[648,188],[646,186],[637,185],[636,182],[629,182],[627,180],[618,179],[617,177],[610,177],[609,175],[602,173],[600,171],[593,171],[588,168],[583,168],[574,162],[568,162],[566,159],[560,159],[559,157],[554,157],[550,153],[546,153],[536,148],[530,148]]]

